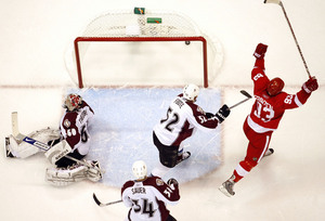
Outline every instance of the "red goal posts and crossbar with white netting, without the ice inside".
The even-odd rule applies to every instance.
[[[208,77],[212,76],[211,74],[208,76],[208,72],[217,74],[222,63],[219,41],[217,39],[211,40],[185,15],[172,11],[147,11],[143,8],[134,8],[133,12],[130,10],[106,12],[89,23],[82,35],[75,39],[74,61],[75,73],[77,72],[78,76],[78,87],[84,87],[81,57],[87,51],[80,49],[80,43],[167,41],[183,41],[185,44],[202,42],[200,68],[203,69],[203,84],[207,88]],[[209,64],[208,60],[211,61]]]

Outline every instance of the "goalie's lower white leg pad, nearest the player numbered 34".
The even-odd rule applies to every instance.
[[[88,167],[76,164],[68,168],[48,168],[46,179],[55,186],[66,186],[86,179]]]

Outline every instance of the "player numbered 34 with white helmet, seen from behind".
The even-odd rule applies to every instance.
[[[177,180],[165,183],[158,177],[147,177],[146,165],[142,160],[132,166],[136,180],[126,182],[121,188],[121,199],[131,207],[126,220],[129,221],[176,221],[166,205],[177,205],[180,199]]]

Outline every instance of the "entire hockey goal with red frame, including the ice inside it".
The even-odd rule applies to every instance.
[[[183,14],[134,8],[91,21],[65,62],[79,88],[188,82],[207,88],[222,64],[222,47]]]

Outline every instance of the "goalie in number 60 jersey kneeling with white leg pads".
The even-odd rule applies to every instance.
[[[60,130],[48,128],[28,136],[16,132],[17,135],[5,138],[6,157],[26,158],[44,150],[47,158],[55,165],[47,169],[47,180],[52,184],[67,185],[83,179],[98,182],[102,179],[99,162],[81,161],[90,150],[88,126],[94,112],[80,95],[73,93],[66,96],[63,107],[66,112]]]

